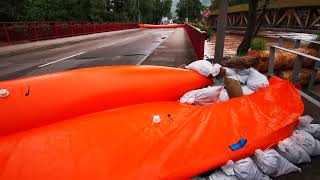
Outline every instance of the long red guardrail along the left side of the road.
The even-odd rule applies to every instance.
[[[0,43],[15,44],[138,28],[138,24],[88,22],[0,22]]]

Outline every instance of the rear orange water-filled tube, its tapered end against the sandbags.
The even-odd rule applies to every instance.
[[[0,135],[130,104],[178,100],[211,84],[196,72],[159,66],[96,67],[0,82]]]

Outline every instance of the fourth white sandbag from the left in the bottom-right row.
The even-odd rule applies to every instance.
[[[276,150],[287,160],[294,164],[310,163],[311,158],[303,147],[292,138],[286,138],[278,143]]]

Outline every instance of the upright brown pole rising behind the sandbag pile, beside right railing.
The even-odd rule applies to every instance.
[[[223,59],[224,37],[225,37],[225,30],[227,26],[228,1],[218,0],[218,5],[219,5],[219,17],[218,17],[218,23],[217,23],[216,49],[214,52],[214,61],[216,63],[221,63]]]

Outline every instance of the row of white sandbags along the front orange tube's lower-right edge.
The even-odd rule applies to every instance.
[[[310,163],[310,156],[320,155],[320,124],[312,124],[311,116],[301,116],[292,135],[274,149],[257,149],[253,157],[236,162],[229,160],[204,179],[270,179],[292,172],[301,172],[297,164]],[[296,164],[296,165],[295,165]],[[197,178],[196,178],[197,179]]]

